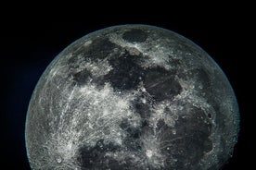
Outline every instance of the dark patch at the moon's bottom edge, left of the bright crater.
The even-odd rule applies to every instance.
[[[126,138],[123,145],[117,146],[113,143],[104,144],[104,140],[98,140],[96,146],[93,148],[83,146],[79,149],[78,162],[81,164],[82,170],[88,169],[111,169],[111,170],[134,170],[136,164],[129,157],[124,157],[122,161],[108,155],[108,153],[115,154],[123,150],[129,152],[138,152],[141,150],[141,143],[138,139]]]

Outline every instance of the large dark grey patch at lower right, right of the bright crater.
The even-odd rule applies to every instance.
[[[172,129],[164,130],[162,140],[171,140],[171,157],[177,162],[172,165],[176,169],[201,169],[198,162],[205,152],[211,152],[212,140],[211,122],[207,115],[197,107],[191,106],[189,115],[180,116],[176,121],[176,134],[173,135]],[[198,129],[198,127],[200,127]],[[187,164],[189,163],[189,164]]]

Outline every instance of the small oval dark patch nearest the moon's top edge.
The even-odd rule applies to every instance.
[[[127,42],[145,42],[148,37],[148,32],[141,29],[127,30],[123,33],[122,39]]]

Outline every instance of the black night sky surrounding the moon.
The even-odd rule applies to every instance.
[[[0,160],[1,166],[6,167],[3,169],[30,169],[24,140],[26,112],[32,91],[53,58],[89,32],[136,23],[159,26],[185,36],[196,42],[222,67],[236,92],[241,116],[238,143],[233,158],[224,170],[250,169],[253,163],[250,136],[253,135],[254,114],[250,96],[255,79],[252,74],[253,55],[249,53],[250,9],[239,4],[213,6],[212,9],[210,6],[194,8],[188,5],[185,9],[184,6],[167,4],[153,5],[152,8],[134,5],[104,11],[87,6],[72,12],[65,8],[56,12],[57,17],[49,15],[46,8],[40,12],[37,9],[29,12],[13,10],[14,17],[7,15],[11,11],[4,12],[0,31],[0,129],[3,132]]]

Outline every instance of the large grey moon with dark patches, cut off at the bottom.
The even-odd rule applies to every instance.
[[[218,170],[237,142],[220,67],[171,30],[122,25],[73,42],[32,94],[32,169]]]

